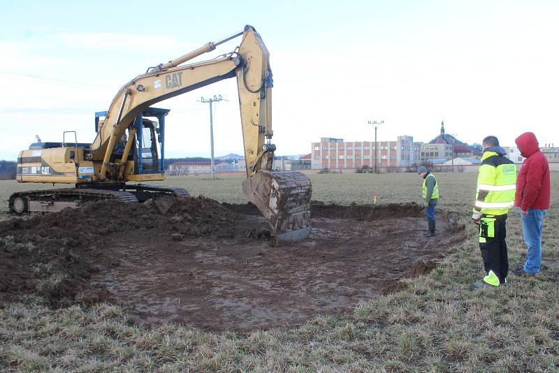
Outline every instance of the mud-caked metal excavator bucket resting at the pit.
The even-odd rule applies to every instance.
[[[308,237],[312,186],[305,174],[259,170],[242,182],[242,191],[268,219],[276,244]]]

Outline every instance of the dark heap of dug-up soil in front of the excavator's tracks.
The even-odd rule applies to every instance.
[[[101,249],[119,235],[129,237],[125,232],[157,237],[161,245],[192,237],[270,237],[266,225],[242,226],[240,220],[209,198],[162,197],[141,204],[85,203],[79,209],[3,221],[0,305],[22,293],[41,296],[52,307],[73,302],[78,294],[85,301],[105,300],[107,291],[89,286],[89,279],[99,272],[94,263],[119,265],[117,253]]]

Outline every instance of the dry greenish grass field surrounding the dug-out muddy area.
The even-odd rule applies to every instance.
[[[469,220],[474,173],[442,173],[438,208]],[[310,175],[313,199],[342,204],[419,202],[415,174]],[[240,175],[170,177],[229,203],[245,203]],[[1,219],[9,193],[36,185],[0,182]],[[48,186],[50,187],[50,186]],[[552,173],[552,201],[559,173]],[[553,203],[553,202],[552,202]],[[115,305],[52,310],[29,299],[0,310],[0,370],[161,372],[554,372],[559,370],[559,209],[544,219],[543,272],[472,289],[482,275],[475,228],[429,275],[404,290],[363,300],[347,314],[317,316],[297,328],[235,334],[188,326],[130,325]],[[518,212],[507,224],[511,268],[525,247]],[[319,311],[319,310],[317,310]]]

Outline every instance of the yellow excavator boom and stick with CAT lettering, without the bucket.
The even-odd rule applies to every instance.
[[[124,131],[143,110],[167,98],[235,76],[238,80],[247,176],[253,176],[261,168],[270,170],[275,147],[266,143],[273,136],[273,80],[269,54],[254,28],[247,26],[242,36],[242,43],[235,52],[211,61],[177,66],[214,50],[218,44],[210,42],[167,64],[150,68],[147,73],[124,85],[113,98],[103,125],[89,150],[93,161],[102,161],[97,177],[101,181],[110,180],[112,174],[108,170],[113,166],[110,162],[111,154]]]

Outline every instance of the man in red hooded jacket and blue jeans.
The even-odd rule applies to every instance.
[[[534,133],[525,132],[515,142],[525,160],[516,179],[514,205],[521,208],[522,233],[528,251],[523,267],[513,272],[535,275],[542,267],[542,226],[551,191],[549,164],[539,151]]]

